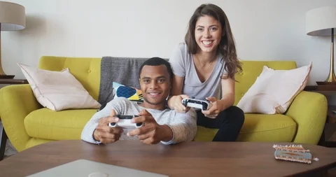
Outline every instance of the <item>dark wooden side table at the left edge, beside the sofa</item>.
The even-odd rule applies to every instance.
[[[25,79],[0,79],[0,84],[2,85],[16,85],[16,84],[27,84],[28,81]],[[1,118],[0,118],[1,121]],[[5,155],[6,150],[6,142],[7,142],[7,134],[5,132],[5,129],[3,128],[3,125],[0,125],[0,160],[3,160],[3,157]]]

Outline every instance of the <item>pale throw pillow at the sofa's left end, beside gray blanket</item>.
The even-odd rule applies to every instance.
[[[53,111],[62,111],[101,106],[69,72],[69,69],[48,71],[25,64],[18,64],[18,66],[27,78],[38,103],[44,107]]]

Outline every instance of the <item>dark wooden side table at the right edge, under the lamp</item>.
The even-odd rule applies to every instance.
[[[324,94],[325,96],[336,96],[336,85],[309,85],[304,87],[304,90],[309,92],[318,92]],[[336,111],[336,105],[328,105],[327,120],[325,121],[323,134],[320,142],[318,143],[321,146],[332,148],[336,147],[336,141],[325,140],[325,132],[328,132],[327,134],[331,134],[331,138],[336,134],[336,129],[332,128],[336,127],[336,112],[334,113],[334,111]]]

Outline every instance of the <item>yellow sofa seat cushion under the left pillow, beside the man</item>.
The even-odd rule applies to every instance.
[[[38,139],[80,139],[83,127],[96,112],[96,109],[51,111],[41,108],[27,115],[25,128],[29,136]]]

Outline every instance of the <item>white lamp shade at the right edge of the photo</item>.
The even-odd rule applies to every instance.
[[[332,28],[336,34],[336,6],[325,6],[307,11],[307,35],[331,36]]]

